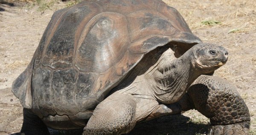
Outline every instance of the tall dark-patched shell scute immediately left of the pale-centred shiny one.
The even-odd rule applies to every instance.
[[[72,66],[76,43],[76,32],[84,18],[96,14],[95,4],[80,4],[62,12],[45,42],[42,64],[51,68],[69,68]],[[97,8],[96,8],[97,9]]]

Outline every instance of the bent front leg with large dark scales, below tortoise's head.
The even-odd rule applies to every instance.
[[[236,88],[221,78],[201,75],[188,90],[195,109],[210,118],[208,135],[247,135],[249,110]]]

